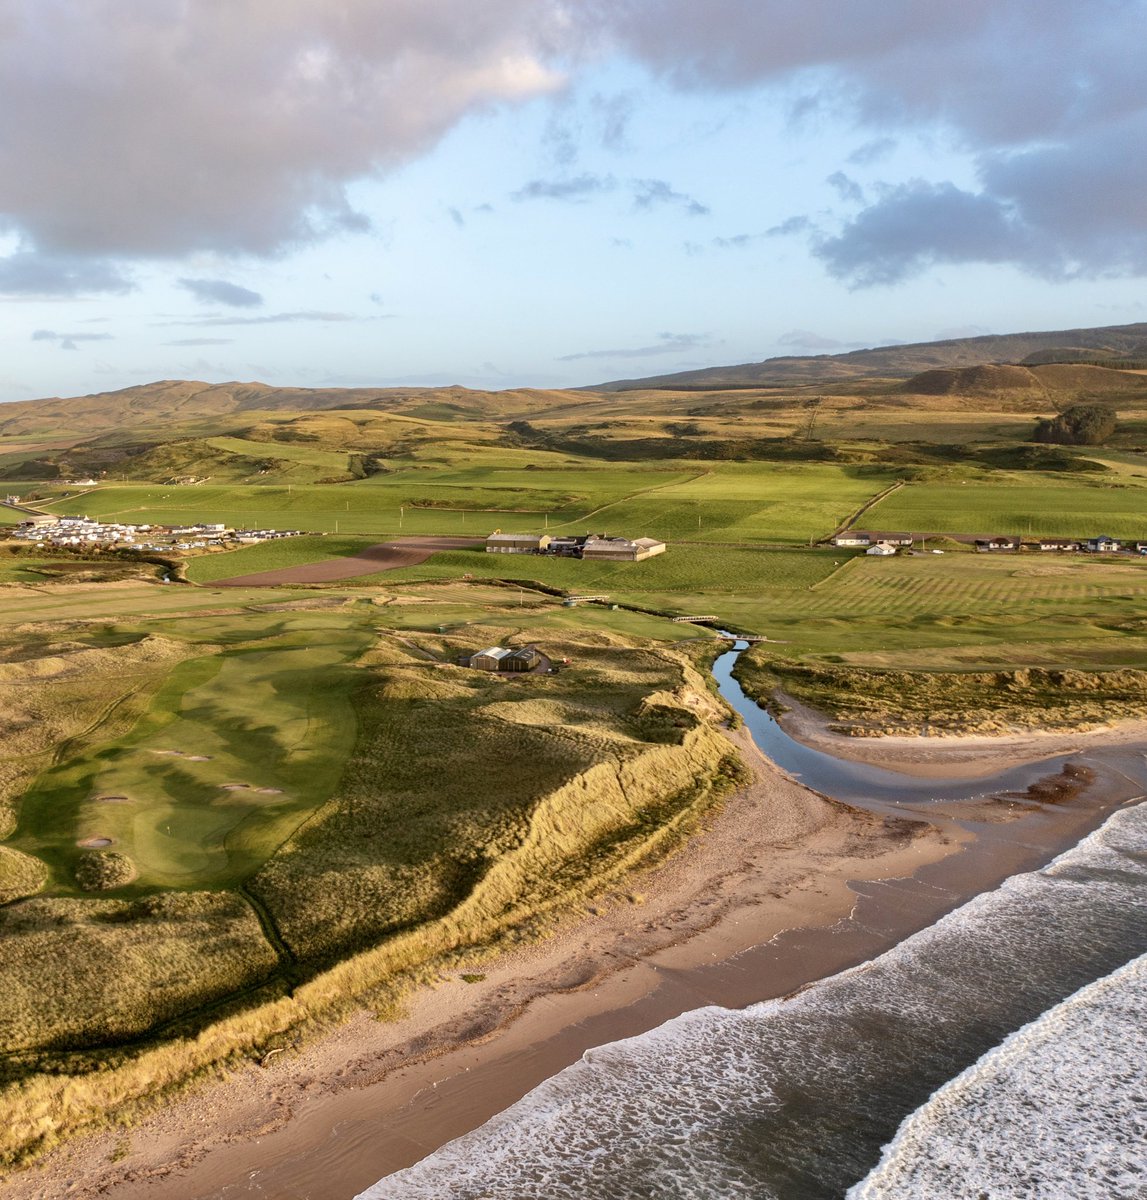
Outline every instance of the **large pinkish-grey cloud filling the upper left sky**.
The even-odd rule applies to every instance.
[[[5,0],[0,215],[38,253],[275,254],[347,185],[563,84],[560,0]]]

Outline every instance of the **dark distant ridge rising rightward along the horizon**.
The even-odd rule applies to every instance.
[[[613,379],[585,391],[636,391],[647,388],[715,390],[799,384],[847,383],[851,379],[906,379],[942,367],[981,364],[1097,362],[1147,365],[1147,323],[1061,329],[1043,334],[1002,334],[954,337],[943,342],[884,346],[847,354],[815,354],[765,359],[729,367],[678,371],[641,379]]]

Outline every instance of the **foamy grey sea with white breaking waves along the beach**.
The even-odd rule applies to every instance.
[[[863,966],[588,1051],[359,1200],[1139,1200],[1145,954],[1140,803]]]

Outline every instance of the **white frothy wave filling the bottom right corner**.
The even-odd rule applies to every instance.
[[[848,1200],[1147,1196],[1145,1030],[1147,955],[942,1087]]]

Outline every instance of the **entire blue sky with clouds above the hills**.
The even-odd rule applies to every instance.
[[[1147,320],[1147,0],[0,0],[0,400]]]

